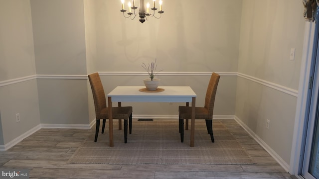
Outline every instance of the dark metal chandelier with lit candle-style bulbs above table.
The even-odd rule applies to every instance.
[[[161,4],[162,1],[160,0],[160,11],[158,11],[158,13],[160,14],[159,17],[155,16],[155,11],[158,9],[155,6],[155,1],[153,0],[153,7],[150,10],[150,3],[148,2],[147,5],[145,6],[145,2],[144,0],[140,0],[140,8],[139,10],[137,10],[137,6],[135,6],[135,0],[133,0],[133,5],[131,4],[131,2],[128,3],[129,5],[129,12],[127,14],[125,14],[125,12],[127,11],[124,7],[124,0],[122,1],[122,10],[121,12],[123,12],[123,15],[125,18],[131,18],[132,20],[138,15],[140,16],[140,22],[143,23],[145,22],[145,19],[148,20],[149,16],[150,17],[155,17],[155,18],[160,18],[161,14],[164,13],[164,11],[162,11],[161,8]],[[150,12],[151,11],[151,12]]]

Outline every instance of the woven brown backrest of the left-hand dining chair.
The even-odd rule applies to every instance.
[[[103,89],[103,85],[99,76],[99,73],[93,73],[88,75],[93,99],[94,99],[94,106],[95,106],[95,115],[98,118],[101,110],[106,108],[106,98]]]

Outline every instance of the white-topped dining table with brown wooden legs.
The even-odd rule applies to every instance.
[[[144,86],[118,86],[108,93],[110,147],[114,146],[112,102],[191,102],[190,147],[194,147],[196,93],[188,86],[164,86],[161,92],[143,92]]]

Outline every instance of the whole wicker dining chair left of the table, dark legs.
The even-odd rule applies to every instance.
[[[106,105],[106,97],[103,89],[103,85],[98,73],[93,73],[88,75],[93,99],[95,106],[95,116],[96,116],[96,130],[95,130],[95,139],[94,142],[98,139],[99,128],[100,128],[100,119],[103,119],[102,134],[104,133],[105,121],[109,118],[109,109]],[[127,143],[128,135],[128,119],[129,119],[129,128],[130,134],[132,133],[132,106],[126,107],[112,107],[112,116],[113,119],[119,119],[119,125],[121,125],[121,120],[124,119],[124,142]],[[121,127],[119,127],[121,129]]]

